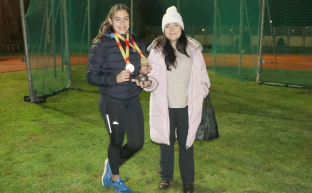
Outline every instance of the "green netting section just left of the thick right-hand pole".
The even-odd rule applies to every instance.
[[[256,76],[259,1],[214,1],[212,58],[209,67],[230,77]]]

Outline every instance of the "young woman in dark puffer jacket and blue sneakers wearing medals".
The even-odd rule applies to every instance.
[[[144,140],[141,88],[130,80],[150,70],[148,65],[141,68],[147,63],[144,44],[128,32],[129,25],[129,9],[121,4],[111,7],[92,41],[86,72],[87,82],[98,86],[99,110],[110,139],[102,184],[118,193],[131,192],[120,178],[119,166],[142,148]],[[125,132],[127,143],[122,146]]]

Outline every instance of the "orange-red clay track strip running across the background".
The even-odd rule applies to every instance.
[[[212,54],[203,54],[204,60],[207,66],[212,66],[213,56]],[[21,61],[22,56],[8,56],[0,57],[0,73],[1,72],[13,72],[26,70],[26,63]],[[80,57],[80,59],[79,59]],[[255,66],[257,57],[251,55],[242,56],[242,67]],[[274,57],[272,54],[263,55],[264,64],[262,68],[275,68]],[[225,60],[223,54],[218,54],[216,58],[216,64],[224,64],[224,66],[237,66],[239,61],[239,55],[237,54],[225,54]],[[71,55],[70,64],[86,64],[87,55]],[[276,55],[276,63],[278,69],[300,69],[300,70],[312,70],[312,55],[293,54],[293,55]]]

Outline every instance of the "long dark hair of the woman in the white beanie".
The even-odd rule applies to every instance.
[[[177,39],[175,43],[175,48],[178,52],[185,54],[187,57],[189,57],[186,53],[186,46],[187,46],[187,38],[182,29],[181,36]],[[176,68],[175,50],[171,46],[169,39],[164,34],[161,38],[157,39],[155,47],[161,48],[161,52],[164,55],[164,62],[166,64],[167,70],[171,71],[172,67]]]

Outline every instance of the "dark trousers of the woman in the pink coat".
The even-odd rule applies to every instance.
[[[185,108],[169,108],[170,145],[160,144],[160,177],[161,180],[173,179],[175,132],[179,145],[179,168],[182,183],[194,182],[194,151],[193,146],[186,150],[188,134],[188,112]],[[176,128],[176,130],[175,130]]]

